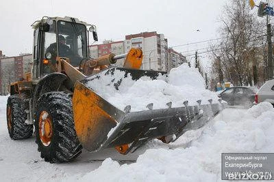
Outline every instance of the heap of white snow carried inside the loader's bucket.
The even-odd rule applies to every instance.
[[[150,103],[153,103],[153,109],[168,108],[168,102],[172,102],[173,107],[182,107],[186,100],[190,106],[197,105],[197,100],[202,100],[202,104],[208,104],[210,99],[218,102],[216,93],[205,89],[201,74],[187,63],[173,68],[167,77],[160,76],[155,80],[143,76],[135,81],[131,76],[123,78],[124,75],[124,72],[116,70],[114,76],[101,76],[87,82],[86,86],[120,110],[127,105],[131,105],[132,111],[148,110],[147,104]],[[116,90],[114,82],[121,78],[123,81]]]

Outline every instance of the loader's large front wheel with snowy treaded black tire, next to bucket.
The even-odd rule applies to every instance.
[[[45,122],[50,124],[49,134]],[[43,94],[38,100],[34,124],[38,151],[46,162],[69,162],[82,153],[73,121],[71,94],[58,91]],[[50,136],[48,143],[47,136]]]

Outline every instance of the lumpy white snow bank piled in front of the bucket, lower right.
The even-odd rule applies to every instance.
[[[172,144],[160,149],[161,144],[134,164],[120,166],[108,158],[97,170],[65,181],[221,181],[221,153],[273,152],[273,121],[274,108],[269,103],[249,110],[228,108],[202,132],[198,130],[200,136],[191,145],[179,147],[177,142],[174,149],[169,149]]]

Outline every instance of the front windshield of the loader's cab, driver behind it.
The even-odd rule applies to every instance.
[[[86,26],[58,21],[58,56],[69,57],[71,65],[78,66],[87,56]]]

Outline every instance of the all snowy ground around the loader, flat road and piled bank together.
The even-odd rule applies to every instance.
[[[34,137],[10,139],[6,99],[0,96],[1,181],[221,181],[221,153],[274,151],[274,108],[262,103],[227,108],[170,145],[153,140],[130,155],[83,151],[69,164],[50,164],[40,158]]]

